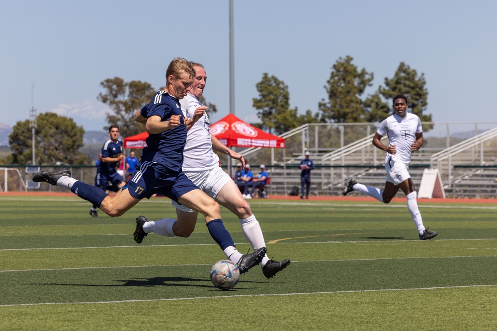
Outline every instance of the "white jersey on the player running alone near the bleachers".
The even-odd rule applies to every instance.
[[[377,131],[381,136],[387,134],[389,144],[395,145],[396,153],[387,153],[387,156],[407,164],[411,162],[411,145],[416,141],[416,133],[420,132],[423,132],[421,120],[412,113],[406,113],[405,117],[397,114],[387,117]]]

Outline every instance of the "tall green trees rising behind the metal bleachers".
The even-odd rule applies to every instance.
[[[374,74],[365,68],[359,70],[352,61],[350,56],[336,61],[324,86],[327,98],[318,103],[317,112],[308,109],[303,115],[297,115],[297,108],[290,107],[288,86],[264,73],[256,84],[259,97],[252,99],[261,121],[256,126],[281,134],[307,123],[381,122],[392,115],[392,98],[398,94],[408,98],[408,111],[419,116],[422,122],[431,122],[431,115],[425,114],[428,90],[423,73],[418,75],[415,69],[401,62],[392,78],[385,77],[384,85],[373,94],[364,95],[366,88],[373,85]]]

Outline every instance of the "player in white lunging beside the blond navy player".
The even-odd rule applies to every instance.
[[[188,118],[187,126],[189,126],[183,151],[182,170],[202,191],[238,216],[242,231],[254,251],[257,248],[266,247],[259,222],[252,214],[250,205],[242,197],[235,182],[219,166],[219,157],[213,150],[239,160],[243,167],[245,167],[245,159],[242,154],[223,145],[210,133],[209,118],[204,111],[205,107],[199,100],[207,75],[202,65],[192,63],[192,66],[196,71],[196,76],[187,90],[187,95],[180,100],[183,114]],[[202,114],[201,117],[200,114]],[[198,213],[175,201],[172,201],[172,205],[176,207],[177,220],[164,218],[158,221],[146,221],[142,226],[143,230],[146,233],[154,232],[167,237],[189,237],[195,229]],[[269,260],[267,254],[260,263],[262,272],[267,278],[273,277],[289,264],[289,259]]]

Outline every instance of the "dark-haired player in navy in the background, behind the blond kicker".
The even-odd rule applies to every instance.
[[[117,192],[126,184],[123,177],[117,172],[119,162],[124,159],[122,154],[123,142],[119,140],[119,127],[113,125],[109,128],[109,139],[102,146],[100,176],[95,185],[103,191]],[[93,204],[90,209],[92,217],[98,217],[97,205]]]

